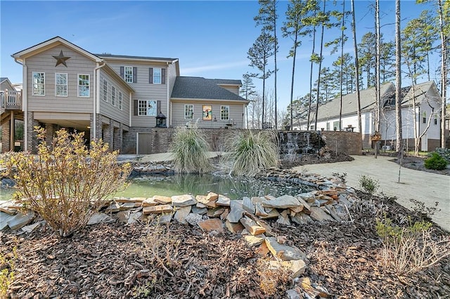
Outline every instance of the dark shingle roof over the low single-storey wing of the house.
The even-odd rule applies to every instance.
[[[244,98],[221,88],[220,82],[240,80],[205,79],[203,77],[176,77],[171,98],[202,100],[242,100]],[[221,83],[225,84],[225,83]]]

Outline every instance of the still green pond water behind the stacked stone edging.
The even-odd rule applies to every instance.
[[[153,195],[206,195],[208,192],[223,194],[231,199],[284,194],[297,195],[311,189],[295,182],[255,178],[231,178],[216,174],[143,175],[131,180],[131,185],[115,194],[116,197],[153,197]],[[0,201],[11,199],[14,189],[0,190]]]

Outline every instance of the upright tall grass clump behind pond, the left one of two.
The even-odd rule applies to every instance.
[[[174,154],[174,170],[178,173],[211,171],[208,150],[205,135],[196,125],[176,128],[170,145],[170,151]]]

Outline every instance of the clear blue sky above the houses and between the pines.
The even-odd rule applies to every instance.
[[[329,1],[330,6],[333,1]],[[356,0],[356,32],[373,32],[375,1]],[[283,22],[288,1],[279,1],[279,22]],[[338,9],[342,8],[338,1]],[[346,0],[347,8],[350,1]],[[13,83],[22,82],[22,68],[11,54],[61,36],[91,53],[142,55],[179,58],[182,76],[241,79],[248,66],[248,49],[260,33],[253,17],[259,8],[255,1],[0,1],[0,76]],[[417,18],[426,6],[401,1],[402,22]],[[380,1],[382,32],[394,39],[394,1]],[[349,20],[347,27],[350,27]],[[281,32],[278,32],[281,36]],[[339,31],[328,31],[334,39]],[[351,36],[348,31],[347,35]],[[286,55],[290,39],[280,40],[278,52],[278,107],[290,101],[292,58]],[[345,51],[352,53],[352,39]],[[298,50],[294,98],[309,91],[311,39],[304,39]],[[337,56],[326,56],[330,65]],[[272,62],[271,62],[272,63]],[[439,60],[432,61],[439,66]],[[269,65],[270,67],[270,65]],[[272,66],[273,68],[273,66]],[[262,80],[254,79],[258,89]],[[406,83],[407,84],[407,83]],[[273,90],[273,76],[267,81]]]

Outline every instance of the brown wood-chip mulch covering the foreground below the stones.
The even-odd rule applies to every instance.
[[[406,225],[409,217],[416,221],[423,215],[389,197],[358,195],[349,209],[351,222],[269,222],[287,244],[307,253],[309,265],[302,277],[326,288],[328,298],[447,298],[450,258],[412,274],[383,266],[376,219],[386,215],[396,225]],[[17,248],[17,274],[8,297],[287,298],[286,290],[300,289],[298,280],[281,274],[273,279],[272,273],[268,280],[264,270],[269,255],[249,247],[238,234],[205,234],[175,221],[162,228],[115,221],[85,227],[66,239],[45,226],[31,234],[0,232],[0,255],[11,257]],[[437,226],[432,231],[435,238],[449,236]],[[156,245],[149,247],[146,240]],[[0,265],[0,270],[6,267]],[[264,293],[269,282],[270,295]]]

